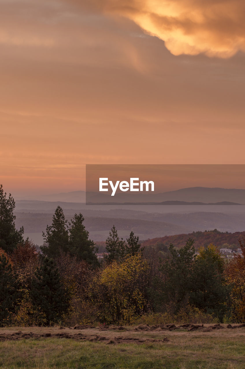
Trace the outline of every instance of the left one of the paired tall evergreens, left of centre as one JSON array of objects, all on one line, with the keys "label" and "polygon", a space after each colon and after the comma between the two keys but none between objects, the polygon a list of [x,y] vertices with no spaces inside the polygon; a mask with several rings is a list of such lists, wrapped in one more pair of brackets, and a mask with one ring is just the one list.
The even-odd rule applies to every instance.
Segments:
[{"label": "left one of the paired tall evergreens, left of centre", "polygon": [[44,242],[48,245],[41,246],[41,250],[50,258],[57,256],[60,250],[67,252],[69,245],[67,220],[63,210],[57,207],[53,215],[52,225],[47,225],[46,233],[43,232]]}]

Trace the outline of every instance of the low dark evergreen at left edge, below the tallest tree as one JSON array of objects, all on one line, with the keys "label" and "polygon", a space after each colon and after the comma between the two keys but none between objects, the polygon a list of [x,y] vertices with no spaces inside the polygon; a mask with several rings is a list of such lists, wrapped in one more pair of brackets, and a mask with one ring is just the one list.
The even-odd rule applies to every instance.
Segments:
[{"label": "low dark evergreen at left edge, below the tallest tree", "polygon": [[18,285],[9,260],[0,255],[0,326],[6,323],[10,313],[14,311],[18,297]]}]

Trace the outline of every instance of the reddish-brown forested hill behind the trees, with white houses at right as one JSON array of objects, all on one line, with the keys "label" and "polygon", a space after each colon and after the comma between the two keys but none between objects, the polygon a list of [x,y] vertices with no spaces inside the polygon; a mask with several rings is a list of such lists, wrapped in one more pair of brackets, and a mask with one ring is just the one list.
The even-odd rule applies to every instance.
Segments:
[{"label": "reddish-brown forested hill behind the trees, with white houses at right", "polygon": [[200,246],[206,246],[211,243],[217,245],[218,247],[221,247],[223,244],[235,244],[236,246],[239,246],[238,239],[241,237],[241,235],[245,235],[245,231],[235,233],[219,232],[217,230],[206,232],[198,231],[188,234],[177,234],[172,236],[152,238],[142,242],[142,245],[145,247],[157,245],[168,246],[172,243],[176,248],[181,248],[185,245],[187,239],[191,238],[195,241],[194,246],[196,249],[198,249]]}]

